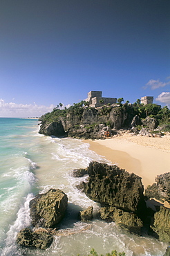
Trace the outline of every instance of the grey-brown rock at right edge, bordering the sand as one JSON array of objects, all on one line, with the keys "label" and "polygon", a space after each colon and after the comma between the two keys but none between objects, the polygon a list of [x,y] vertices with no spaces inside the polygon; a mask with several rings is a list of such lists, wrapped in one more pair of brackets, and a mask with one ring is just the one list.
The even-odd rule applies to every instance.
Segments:
[{"label": "grey-brown rock at right edge, bordering the sand", "polygon": [[145,196],[170,203],[170,172],[156,176],[155,182],[145,190]]}]

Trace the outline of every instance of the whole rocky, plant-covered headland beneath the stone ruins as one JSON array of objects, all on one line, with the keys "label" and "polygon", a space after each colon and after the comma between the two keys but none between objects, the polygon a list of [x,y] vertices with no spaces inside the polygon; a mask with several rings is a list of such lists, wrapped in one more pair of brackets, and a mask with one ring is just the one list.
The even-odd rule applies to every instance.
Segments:
[{"label": "whole rocky, plant-covered headland beneath the stone ruins", "polygon": [[[141,135],[147,136],[162,136],[159,131],[170,131],[170,110],[161,109],[157,104],[113,104],[94,108],[80,102],[68,109],[55,108],[39,120],[40,134],[57,137],[98,139],[103,138],[108,129],[109,135],[119,129],[129,129],[135,134],[141,131]],[[159,130],[154,131],[158,125]]]}]

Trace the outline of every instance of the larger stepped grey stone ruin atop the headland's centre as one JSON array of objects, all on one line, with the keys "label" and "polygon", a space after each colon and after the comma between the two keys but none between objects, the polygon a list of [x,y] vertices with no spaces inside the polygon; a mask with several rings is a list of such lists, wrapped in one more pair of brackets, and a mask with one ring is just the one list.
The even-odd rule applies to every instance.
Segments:
[{"label": "larger stepped grey stone ruin atop the headland's centre", "polygon": [[90,91],[86,101],[89,102],[89,107],[102,107],[104,104],[108,103],[115,104],[117,98],[104,98],[102,97],[102,91]]}]

